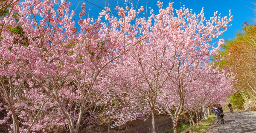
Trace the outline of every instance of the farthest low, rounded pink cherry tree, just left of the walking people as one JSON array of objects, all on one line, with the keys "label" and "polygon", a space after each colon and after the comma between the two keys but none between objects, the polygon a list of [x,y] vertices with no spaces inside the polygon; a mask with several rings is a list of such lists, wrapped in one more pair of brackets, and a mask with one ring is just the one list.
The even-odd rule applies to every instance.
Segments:
[{"label": "farthest low, rounded pink cherry tree, just left of the walking people", "polygon": [[[212,104],[227,100],[227,96],[234,93],[234,77],[227,73],[227,70],[219,70],[213,65],[206,64],[201,70],[200,76],[190,85],[192,91],[186,97],[184,111],[187,111],[190,117],[191,125],[195,125],[193,112],[198,114],[203,110],[203,116],[207,108]],[[202,97],[203,96],[203,97]],[[196,115],[197,122],[199,115]],[[207,118],[207,116],[204,116]]]}]

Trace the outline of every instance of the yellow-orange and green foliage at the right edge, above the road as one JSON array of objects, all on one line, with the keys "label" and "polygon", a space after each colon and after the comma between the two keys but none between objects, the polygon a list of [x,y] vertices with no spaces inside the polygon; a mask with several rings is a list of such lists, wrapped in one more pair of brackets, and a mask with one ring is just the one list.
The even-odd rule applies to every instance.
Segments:
[{"label": "yellow-orange and green foliage at the right edge, above the road", "polygon": [[[225,60],[215,62],[220,69],[228,68],[236,74],[237,83],[233,87],[238,90],[236,94],[230,96],[230,103],[237,109],[244,109],[244,102],[255,97],[256,94],[248,89],[254,87],[256,77],[256,25],[244,22],[243,30],[236,33],[236,38],[226,41],[221,50],[220,56],[214,57]],[[248,77],[248,78],[246,78]],[[250,78],[249,78],[250,77]]]}]

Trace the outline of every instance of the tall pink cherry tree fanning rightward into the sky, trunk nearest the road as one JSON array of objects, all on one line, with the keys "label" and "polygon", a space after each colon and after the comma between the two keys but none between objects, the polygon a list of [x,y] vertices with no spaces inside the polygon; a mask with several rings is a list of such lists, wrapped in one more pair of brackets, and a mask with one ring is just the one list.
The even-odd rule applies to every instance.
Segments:
[{"label": "tall pink cherry tree fanning rightward into the sky, trunk nearest the road", "polygon": [[[164,11],[173,11],[173,9],[166,8]],[[217,12],[214,13],[214,17],[210,20],[205,20],[203,10],[200,14],[192,14],[192,11],[183,7],[177,10],[178,17],[173,17],[180,25],[176,30],[172,30],[173,44],[176,44],[177,50],[175,56],[175,68],[173,69],[172,76],[169,77],[169,91],[172,95],[169,95],[169,99],[172,102],[165,103],[165,109],[172,117],[174,132],[177,132],[177,122],[179,116],[183,111],[184,101],[187,97],[187,93],[191,91],[189,85],[198,78],[198,71],[205,61],[209,61],[212,55],[217,54],[217,50],[223,44],[223,40],[220,39],[217,42],[218,46],[213,47],[213,44],[209,42],[212,39],[221,35],[228,23],[232,21],[232,16],[221,18],[217,16]],[[161,14],[161,12],[160,12]],[[163,15],[164,16],[164,15]],[[162,18],[162,17],[161,17]],[[169,22],[169,19],[163,19]],[[170,33],[169,33],[170,34]],[[212,50],[210,50],[212,48]],[[168,90],[168,89],[167,89]],[[174,94],[173,94],[174,93]],[[163,93],[164,94],[164,93]],[[172,98],[172,97],[173,98]],[[166,97],[167,98],[167,97]],[[174,100],[178,100],[177,104],[173,103]],[[166,100],[164,100],[166,101]],[[174,107],[174,108],[170,108]],[[172,110],[174,112],[172,112]]]}]

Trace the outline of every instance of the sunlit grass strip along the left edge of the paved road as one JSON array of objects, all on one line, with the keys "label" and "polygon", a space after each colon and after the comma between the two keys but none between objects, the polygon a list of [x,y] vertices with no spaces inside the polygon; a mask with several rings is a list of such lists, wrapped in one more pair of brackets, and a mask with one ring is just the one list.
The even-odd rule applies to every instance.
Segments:
[{"label": "sunlit grass strip along the left edge of the paved road", "polygon": [[208,119],[203,120],[199,125],[196,125],[195,127],[192,127],[192,129],[189,130],[189,133],[205,133],[208,129],[208,127],[212,124],[212,122],[216,119],[215,115],[212,114],[208,116]]}]

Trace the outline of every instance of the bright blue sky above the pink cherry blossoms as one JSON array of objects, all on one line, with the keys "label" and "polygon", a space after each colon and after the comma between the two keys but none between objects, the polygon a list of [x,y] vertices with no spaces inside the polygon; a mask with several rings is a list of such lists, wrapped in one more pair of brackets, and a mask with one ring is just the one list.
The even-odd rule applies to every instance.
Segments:
[{"label": "bright blue sky above the pink cherry blossoms", "polygon": [[[93,17],[96,19],[99,15],[99,12],[102,11],[101,8],[104,8],[106,3],[107,6],[111,8],[111,11],[113,13],[116,13],[114,8],[119,4],[119,6],[124,5],[125,0],[67,0],[68,2],[72,3],[72,9],[75,9],[77,6],[78,8],[76,9],[76,14],[79,14],[80,7],[82,3],[86,4],[86,10],[87,14],[89,12],[89,17]],[[128,0],[129,3],[130,0]],[[158,11],[157,7],[157,1],[158,0],[131,0],[131,3],[134,3],[134,6],[137,5],[138,2],[138,7],[144,6],[146,8],[147,2],[148,2],[148,7],[151,7],[151,9],[154,9],[154,13],[156,14]],[[169,2],[174,2],[174,8],[179,9],[180,5],[185,5],[186,8],[193,9],[193,12],[196,14],[200,13],[201,9],[204,7],[204,14],[207,19],[209,17],[213,16],[213,13],[215,11],[218,11],[218,14],[221,14],[221,16],[227,16],[229,13],[229,9],[231,9],[231,14],[234,16],[233,22],[231,22],[232,26],[227,29],[227,31],[223,34],[223,39],[228,40],[232,39],[236,36],[236,32],[241,30],[241,25],[244,22],[248,23],[255,23],[255,13],[253,11],[254,6],[252,1],[247,1],[247,0],[160,0],[160,2],[163,2],[163,7],[167,6]],[[89,3],[90,2],[90,3]],[[95,6],[93,4],[99,6]],[[145,10],[144,10],[145,11]],[[148,11],[149,15],[149,11]]]}]

